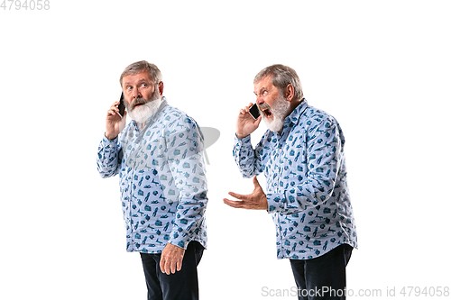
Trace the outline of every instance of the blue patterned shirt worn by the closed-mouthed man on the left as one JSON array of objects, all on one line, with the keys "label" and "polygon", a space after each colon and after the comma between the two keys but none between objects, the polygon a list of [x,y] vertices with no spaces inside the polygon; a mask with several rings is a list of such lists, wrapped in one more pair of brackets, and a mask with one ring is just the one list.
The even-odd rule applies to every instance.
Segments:
[{"label": "blue patterned shirt worn by the closed-mouthed man on the left", "polygon": [[161,253],[168,242],[207,247],[202,151],[198,124],[165,98],[141,132],[132,121],[114,141],[100,142],[100,176],[120,177],[127,251]]}]

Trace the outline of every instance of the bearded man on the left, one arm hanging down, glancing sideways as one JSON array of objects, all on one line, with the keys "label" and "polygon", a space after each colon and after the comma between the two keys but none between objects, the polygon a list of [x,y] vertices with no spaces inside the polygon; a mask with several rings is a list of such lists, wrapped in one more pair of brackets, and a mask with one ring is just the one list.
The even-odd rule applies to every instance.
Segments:
[{"label": "bearded man on the left, one arm hanging down, glancing sideways", "polygon": [[[120,77],[124,116],[106,114],[97,153],[101,177],[119,174],[127,251],[140,252],[148,299],[198,299],[197,266],[207,247],[203,136],[168,105],[160,69],[138,61]],[[125,115],[132,122],[125,126]]]}]

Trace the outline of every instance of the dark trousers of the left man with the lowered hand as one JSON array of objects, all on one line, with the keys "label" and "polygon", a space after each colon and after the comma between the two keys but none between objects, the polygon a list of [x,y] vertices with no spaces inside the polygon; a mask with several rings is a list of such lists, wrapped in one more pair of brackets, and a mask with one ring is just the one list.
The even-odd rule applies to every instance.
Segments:
[{"label": "dark trousers of the left man with the lowered hand", "polygon": [[140,253],[143,260],[148,300],[197,300],[198,263],[204,247],[198,241],[190,241],[183,256],[181,269],[175,274],[161,272],[161,254]]}]

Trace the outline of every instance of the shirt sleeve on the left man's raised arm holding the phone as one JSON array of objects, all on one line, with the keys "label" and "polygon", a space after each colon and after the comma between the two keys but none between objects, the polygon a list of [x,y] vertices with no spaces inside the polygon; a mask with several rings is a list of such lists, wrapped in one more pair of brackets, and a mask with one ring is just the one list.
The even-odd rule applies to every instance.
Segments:
[{"label": "shirt sleeve on the left man's raised arm holding the phone", "polygon": [[104,136],[97,150],[97,171],[101,177],[113,177],[117,174],[121,155],[122,150],[118,138],[110,141]]}]

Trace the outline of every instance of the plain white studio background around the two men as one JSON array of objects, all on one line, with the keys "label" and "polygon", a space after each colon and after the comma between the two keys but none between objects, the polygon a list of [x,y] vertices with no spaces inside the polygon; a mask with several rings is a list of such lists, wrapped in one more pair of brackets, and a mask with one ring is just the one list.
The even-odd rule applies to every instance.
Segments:
[{"label": "plain white studio background around the two men", "polygon": [[119,76],[141,59],[161,68],[171,105],[221,132],[207,149],[202,299],[296,298],[262,293],[295,286],[271,217],[222,202],[253,189],[232,158],[235,118],[273,63],[295,68],[309,105],[345,132],[360,246],[348,289],[381,289],[380,299],[392,287],[451,286],[447,1],[4,3],[1,299],[145,299],[117,178],[96,169]]}]

